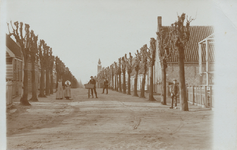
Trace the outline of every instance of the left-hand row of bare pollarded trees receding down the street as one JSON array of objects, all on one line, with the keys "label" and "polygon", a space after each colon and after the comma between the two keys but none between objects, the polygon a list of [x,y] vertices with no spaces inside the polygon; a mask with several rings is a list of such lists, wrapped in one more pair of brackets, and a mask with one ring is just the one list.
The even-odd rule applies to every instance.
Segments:
[{"label": "left-hand row of bare pollarded trees receding down the street", "polygon": [[[24,30],[23,30],[24,26]],[[65,64],[58,58],[52,55],[52,48],[50,48],[44,40],[38,42],[38,36],[34,31],[30,31],[29,24],[23,24],[22,22],[14,22],[14,26],[11,23],[11,29],[9,28],[9,36],[14,36],[16,42],[21,47],[21,52],[24,59],[24,78],[23,78],[23,95],[20,99],[22,105],[31,105],[29,101],[38,101],[39,97],[46,97],[53,94],[53,70],[56,65],[57,80],[69,79],[72,82],[72,86],[77,85],[76,78],[71,74],[69,69],[65,67]],[[32,97],[28,100],[28,62],[32,64]],[[41,77],[40,77],[40,93],[37,96],[36,79],[35,79],[35,67],[40,62]],[[45,81],[46,80],[46,81]],[[46,85],[44,85],[46,84]]]}]

